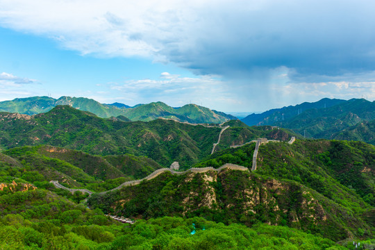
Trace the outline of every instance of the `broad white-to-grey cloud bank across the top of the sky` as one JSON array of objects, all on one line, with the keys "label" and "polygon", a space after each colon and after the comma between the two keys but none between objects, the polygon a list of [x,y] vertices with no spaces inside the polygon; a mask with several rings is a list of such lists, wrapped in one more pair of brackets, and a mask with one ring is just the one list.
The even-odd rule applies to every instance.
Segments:
[{"label": "broad white-to-grey cloud bank across the top of the sky", "polygon": [[1,26],[99,57],[142,56],[243,78],[374,70],[374,1],[1,0]]}]

